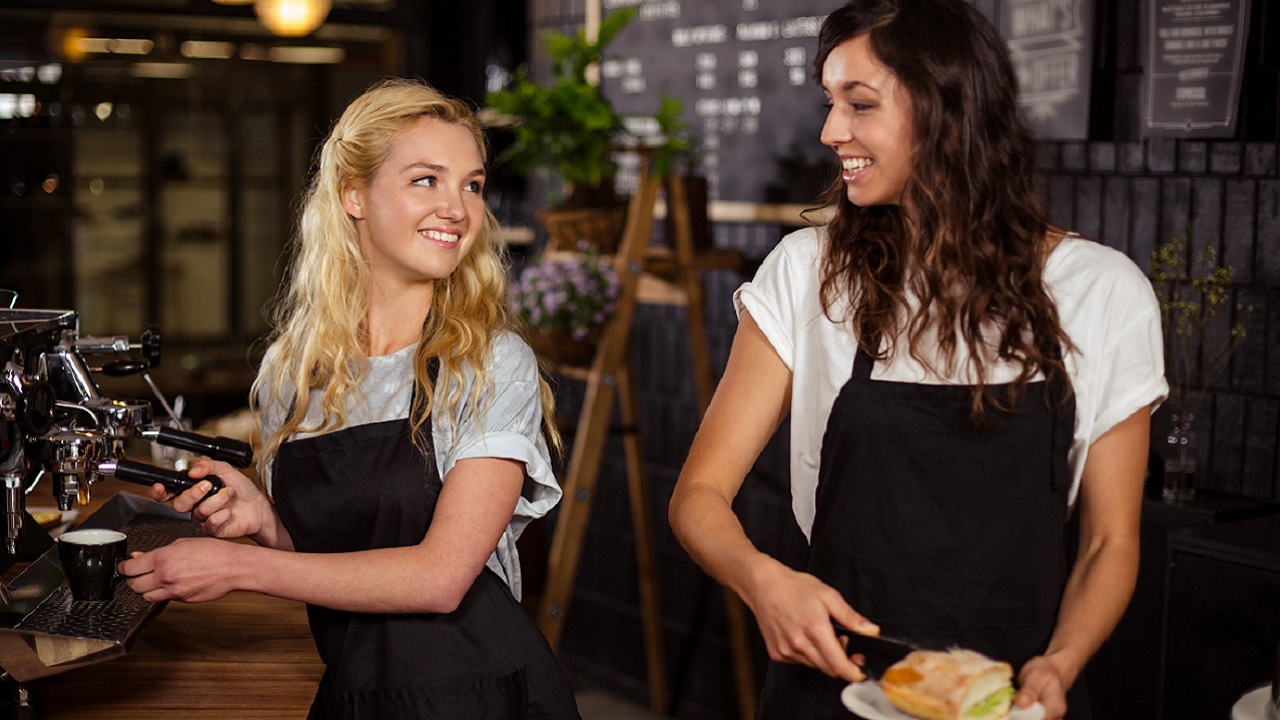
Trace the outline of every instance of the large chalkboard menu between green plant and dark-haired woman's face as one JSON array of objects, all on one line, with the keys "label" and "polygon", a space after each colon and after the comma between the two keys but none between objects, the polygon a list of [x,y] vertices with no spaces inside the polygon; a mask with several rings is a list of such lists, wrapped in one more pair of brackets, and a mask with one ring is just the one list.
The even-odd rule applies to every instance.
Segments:
[{"label": "large chalkboard menu between green plant and dark-haired woman's face", "polygon": [[712,200],[812,202],[836,177],[812,68],[838,0],[603,0],[605,12],[632,5],[600,68],[614,106],[639,117],[632,129],[644,135],[643,117],[673,95]]}]

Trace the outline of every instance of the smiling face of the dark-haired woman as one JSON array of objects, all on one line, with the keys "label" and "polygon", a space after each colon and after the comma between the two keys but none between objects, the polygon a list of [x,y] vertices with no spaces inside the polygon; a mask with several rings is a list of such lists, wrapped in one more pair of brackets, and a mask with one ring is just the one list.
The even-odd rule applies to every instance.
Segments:
[{"label": "smiling face of the dark-haired woman", "polygon": [[911,99],[859,35],[836,46],[822,65],[829,110],[822,143],[840,156],[849,201],[900,205],[915,167]]}]

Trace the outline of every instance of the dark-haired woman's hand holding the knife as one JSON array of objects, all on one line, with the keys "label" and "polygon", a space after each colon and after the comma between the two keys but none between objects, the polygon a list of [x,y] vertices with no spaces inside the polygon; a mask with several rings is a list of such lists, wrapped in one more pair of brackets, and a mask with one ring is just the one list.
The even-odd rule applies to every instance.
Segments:
[{"label": "dark-haired woman's hand holding the knife", "polygon": [[769,659],[797,662],[849,682],[865,674],[849,657],[832,621],[855,633],[879,634],[879,628],[858,614],[835,588],[818,578],[767,560],[755,591],[745,596],[755,614]]}]

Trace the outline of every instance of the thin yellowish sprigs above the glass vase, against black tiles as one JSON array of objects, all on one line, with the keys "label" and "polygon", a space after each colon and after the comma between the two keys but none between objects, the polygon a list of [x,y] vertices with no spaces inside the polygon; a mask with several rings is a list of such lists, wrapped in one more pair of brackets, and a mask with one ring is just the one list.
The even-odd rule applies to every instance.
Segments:
[{"label": "thin yellowish sprigs above the glass vase, against black tiles", "polygon": [[[1190,237],[1190,228],[1187,236]],[[1236,320],[1225,328],[1216,322],[1219,313],[1230,307],[1234,269],[1219,264],[1212,246],[1206,245],[1188,258],[1183,238],[1170,233],[1151,252],[1149,269],[1160,301],[1165,375],[1174,410],[1189,419],[1244,341],[1244,324],[1239,318],[1249,309],[1235,305]]]}]

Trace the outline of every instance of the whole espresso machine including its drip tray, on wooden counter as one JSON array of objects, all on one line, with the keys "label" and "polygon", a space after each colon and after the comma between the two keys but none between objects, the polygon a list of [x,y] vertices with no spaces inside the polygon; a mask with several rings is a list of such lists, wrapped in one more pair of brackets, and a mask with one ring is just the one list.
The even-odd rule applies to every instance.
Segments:
[{"label": "whole espresso machine including its drip tray, on wooden counter", "polygon": [[[0,571],[31,561],[0,583],[0,716],[37,717],[26,683],[123,655],[163,603],[145,602],[120,583],[115,597],[74,602],[54,541],[27,511],[27,495],[47,477],[61,511],[88,503],[108,479],[179,493],[196,480],[184,471],[125,457],[125,441],[177,447],[246,468],[248,443],[184,432],[150,369],[160,363],[160,334],[81,337],[73,310],[0,307],[0,488],[4,547]],[[96,375],[141,375],[164,416],[146,400],[105,397]],[[216,477],[204,478],[221,488]],[[189,516],[132,493],[113,496],[82,528],[124,530],[129,551],[147,551],[200,534]]]}]

